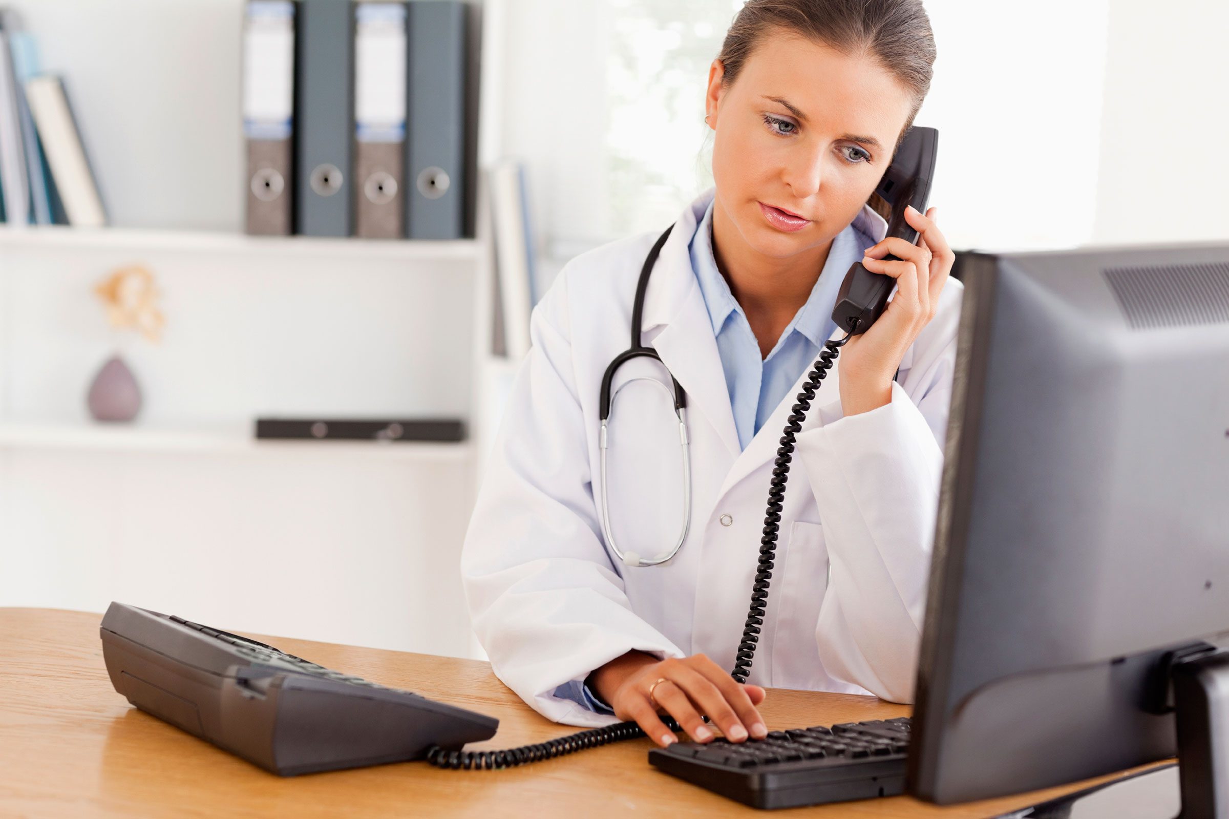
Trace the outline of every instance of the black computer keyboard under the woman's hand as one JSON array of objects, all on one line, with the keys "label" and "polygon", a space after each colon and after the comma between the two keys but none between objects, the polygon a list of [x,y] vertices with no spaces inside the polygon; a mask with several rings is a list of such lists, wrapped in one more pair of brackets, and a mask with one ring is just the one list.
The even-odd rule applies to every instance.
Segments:
[{"label": "black computer keyboard under the woman's hand", "polygon": [[909,719],[773,730],[764,739],[676,743],[649,761],[753,808],[795,808],[905,793]]}]

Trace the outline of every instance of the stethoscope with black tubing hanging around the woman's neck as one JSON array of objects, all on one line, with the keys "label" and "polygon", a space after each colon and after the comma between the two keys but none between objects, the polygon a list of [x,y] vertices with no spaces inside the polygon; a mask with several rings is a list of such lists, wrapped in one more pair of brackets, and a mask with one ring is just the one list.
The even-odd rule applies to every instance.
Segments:
[{"label": "stethoscope with black tubing hanging around the woman's neck", "polygon": [[[682,547],[683,541],[687,540],[687,530],[691,528],[691,457],[687,449],[687,394],[678,385],[678,380],[670,373],[670,368],[666,363],[661,360],[658,355],[658,350],[651,347],[645,347],[640,343],[640,323],[642,316],[644,314],[644,294],[649,289],[649,274],[653,272],[653,266],[658,261],[658,255],[661,252],[661,246],[666,243],[666,237],[670,236],[670,231],[673,230],[673,224],[666,228],[665,232],[658,237],[654,242],[653,250],[649,251],[648,257],[644,259],[644,267],[640,268],[640,279],[635,284],[635,300],[632,303],[632,346],[614,357],[614,360],[610,363],[606,368],[605,375],[602,375],[602,390],[601,398],[599,403],[599,413],[601,419],[601,430],[597,438],[599,457],[601,464],[601,502],[602,502],[602,532],[606,535],[606,542],[614,551],[614,555],[627,566],[658,566],[659,563],[665,563],[671,557],[678,553],[680,547]],[[683,455],[683,528],[678,532],[678,541],[675,547],[669,552],[661,552],[656,557],[644,558],[640,557],[638,552],[628,551],[624,552],[614,542],[614,532],[611,530],[611,515],[610,515],[610,499],[607,497],[608,481],[606,480],[606,440],[607,440],[607,423],[610,421],[611,407],[614,401],[614,396],[611,395],[611,382],[614,380],[614,373],[618,370],[619,365],[633,358],[651,358],[656,360],[661,366],[666,369],[670,374],[670,380],[675,385],[673,401],[675,401],[675,416],[678,418],[678,443],[682,448]],[[900,376],[900,369],[896,370],[896,375],[892,380]],[[666,385],[648,375],[639,375],[630,378],[624,381],[622,386],[627,386],[632,381],[650,381],[656,384],[662,390],[666,390]],[[669,395],[670,391],[666,390]]]}]

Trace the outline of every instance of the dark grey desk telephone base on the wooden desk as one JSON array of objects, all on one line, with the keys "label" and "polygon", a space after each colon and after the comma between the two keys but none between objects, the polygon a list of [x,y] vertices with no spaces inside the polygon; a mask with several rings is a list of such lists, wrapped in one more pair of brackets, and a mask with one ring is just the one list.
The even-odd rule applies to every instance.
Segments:
[{"label": "dark grey desk telephone base on the wooden desk", "polygon": [[100,636],[129,702],[283,776],[425,759],[499,727],[176,615],[112,603]]}]

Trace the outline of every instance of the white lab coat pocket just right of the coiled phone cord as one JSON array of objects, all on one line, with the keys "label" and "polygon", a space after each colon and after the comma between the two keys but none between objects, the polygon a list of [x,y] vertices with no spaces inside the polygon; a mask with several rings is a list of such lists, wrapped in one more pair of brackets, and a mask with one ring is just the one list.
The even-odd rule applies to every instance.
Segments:
[{"label": "white lab coat pocket just right of the coiled phone cord", "polygon": [[[780,607],[773,636],[773,657],[809,657],[814,652],[820,604],[828,587],[828,551],[821,524],[805,520],[790,524],[789,550],[779,577]],[[772,589],[768,594],[772,595]],[[806,651],[807,647],[810,651]],[[778,676],[775,668],[773,676]],[[785,679],[791,676],[785,674]]]}]

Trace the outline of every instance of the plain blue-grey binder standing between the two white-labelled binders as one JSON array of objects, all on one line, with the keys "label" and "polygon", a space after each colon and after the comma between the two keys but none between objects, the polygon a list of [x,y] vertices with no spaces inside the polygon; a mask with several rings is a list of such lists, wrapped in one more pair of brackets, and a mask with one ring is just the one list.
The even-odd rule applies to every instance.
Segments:
[{"label": "plain blue-grey binder standing between the two white-labelled binders", "polygon": [[354,112],[350,0],[300,0],[296,232],[349,236]]}]

